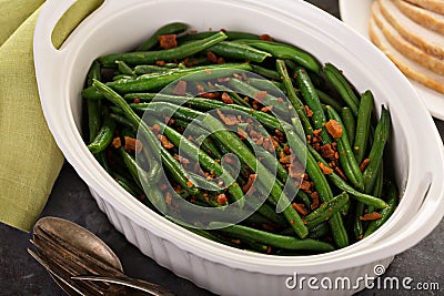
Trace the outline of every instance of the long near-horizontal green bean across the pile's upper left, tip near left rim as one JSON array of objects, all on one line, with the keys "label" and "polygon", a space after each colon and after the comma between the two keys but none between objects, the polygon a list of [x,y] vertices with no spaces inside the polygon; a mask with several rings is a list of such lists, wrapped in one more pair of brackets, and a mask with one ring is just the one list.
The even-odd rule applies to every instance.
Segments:
[{"label": "long near-horizontal green bean across the pile's upper left, tip near left rim", "polygon": [[[219,70],[219,71],[212,71]],[[212,64],[212,65],[202,65],[189,69],[180,69],[175,71],[168,71],[163,73],[151,74],[148,76],[140,76],[133,80],[124,80],[124,81],[113,81],[108,82],[107,86],[119,93],[130,93],[130,92],[141,92],[141,91],[150,91],[154,89],[159,89],[165,86],[176,80],[188,75],[194,74],[194,80],[208,80],[212,78],[220,78],[224,75],[230,75],[233,73],[233,70],[251,70],[251,67],[248,63],[225,63],[225,64]],[[100,93],[95,86],[91,86],[84,89],[82,91],[82,95],[85,99],[102,99],[103,95]]]}]

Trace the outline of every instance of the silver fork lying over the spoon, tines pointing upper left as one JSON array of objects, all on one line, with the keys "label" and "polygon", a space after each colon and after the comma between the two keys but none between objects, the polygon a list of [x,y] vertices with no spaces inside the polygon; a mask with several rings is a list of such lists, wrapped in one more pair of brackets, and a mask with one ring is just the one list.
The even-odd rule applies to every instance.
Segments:
[{"label": "silver fork lying over the spoon, tines pointing upper left", "polygon": [[159,285],[128,277],[121,271],[73,246],[39,225],[29,254],[70,295],[133,295],[135,290],[155,296],[173,294]]}]

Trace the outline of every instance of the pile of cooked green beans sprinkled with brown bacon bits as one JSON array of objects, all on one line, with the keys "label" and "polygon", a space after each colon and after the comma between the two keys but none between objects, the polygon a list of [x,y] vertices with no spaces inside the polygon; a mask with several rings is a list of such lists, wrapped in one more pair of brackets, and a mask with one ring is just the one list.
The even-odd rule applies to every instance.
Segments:
[{"label": "pile of cooked green beans sprinkled with brown bacon bits", "polygon": [[[269,35],[186,30],[165,24],[135,51],[99,57],[89,70],[84,141],[118,184],[181,225],[173,195],[221,213],[233,203],[254,208],[233,225],[215,215],[205,227],[199,216],[182,226],[272,255],[346,247],[387,221],[400,200],[386,169],[391,116],[370,90],[359,93],[333,63]],[[176,44],[162,48],[165,35]],[[163,92],[190,74],[183,90]],[[230,154],[239,173],[222,165]],[[261,201],[249,197],[256,176]]]}]

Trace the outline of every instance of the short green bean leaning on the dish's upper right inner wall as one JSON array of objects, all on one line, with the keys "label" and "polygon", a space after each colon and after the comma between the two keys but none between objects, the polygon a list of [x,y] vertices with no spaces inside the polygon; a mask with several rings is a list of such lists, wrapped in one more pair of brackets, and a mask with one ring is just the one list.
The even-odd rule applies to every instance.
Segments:
[{"label": "short green bean leaning on the dish's upper right inner wall", "polygon": [[357,108],[360,105],[360,100],[354,93],[352,86],[349,84],[349,81],[332,63],[326,63],[323,70],[327,80],[332,83],[332,85],[340,93],[341,98],[352,110],[353,115],[357,118]]}]

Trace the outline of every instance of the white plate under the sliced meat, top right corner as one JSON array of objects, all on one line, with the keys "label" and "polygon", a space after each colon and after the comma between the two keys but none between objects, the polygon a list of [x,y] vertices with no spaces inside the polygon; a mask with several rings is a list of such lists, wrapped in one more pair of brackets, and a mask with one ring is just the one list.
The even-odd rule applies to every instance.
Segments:
[{"label": "white plate under the sliced meat, top right corner", "polygon": [[[373,0],[340,0],[341,19],[365,38],[369,38],[369,18],[372,2]],[[410,80],[410,82],[418,96],[424,100],[432,116],[444,120],[444,95],[416,81]]]}]

